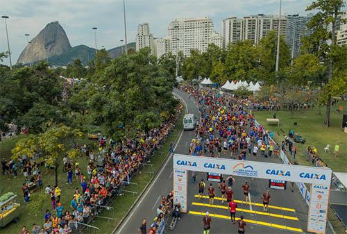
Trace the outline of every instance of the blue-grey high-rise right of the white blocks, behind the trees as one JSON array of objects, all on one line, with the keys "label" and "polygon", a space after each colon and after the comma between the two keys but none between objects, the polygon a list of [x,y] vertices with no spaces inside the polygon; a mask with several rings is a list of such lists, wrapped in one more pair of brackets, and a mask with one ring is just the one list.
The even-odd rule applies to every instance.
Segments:
[{"label": "blue-grey high-rise right of the white blocks, behind the trees", "polygon": [[307,31],[307,23],[310,20],[310,16],[287,15],[285,42],[289,46],[292,58],[300,55],[301,38],[310,34],[310,31]]}]

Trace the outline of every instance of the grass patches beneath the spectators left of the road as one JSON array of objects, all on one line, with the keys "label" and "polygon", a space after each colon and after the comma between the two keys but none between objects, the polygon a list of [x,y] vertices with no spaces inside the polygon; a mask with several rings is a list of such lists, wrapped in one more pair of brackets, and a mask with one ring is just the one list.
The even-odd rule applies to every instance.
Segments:
[{"label": "grass patches beneath the spectators left of the road", "polygon": [[[151,160],[151,163],[153,164],[154,172],[158,171],[160,165],[166,158],[167,153],[169,152],[170,142],[171,141],[174,142],[176,140],[176,138],[178,137],[178,134],[183,128],[182,126],[183,115],[184,115],[184,112],[178,118],[178,123],[176,124],[174,131],[167,138],[167,141],[165,142],[164,146],[157,151],[157,153]],[[3,158],[3,157],[10,158],[11,156],[10,150],[13,147],[15,147],[17,140],[19,140],[19,137],[14,137],[10,140],[5,140],[3,142],[0,142],[0,158]],[[81,158],[77,158],[76,160],[78,160],[83,174],[87,174],[86,170],[87,170],[88,158],[81,157]],[[45,172],[44,167],[41,167],[40,170],[42,172]],[[147,183],[149,183],[152,177],[153,177],[153,174],[147,174],[147,173],[138,174],[137,176],[135,176],[135,178],[133,178],[133,181],[132,181],[133,183],[137,183],[138,186],[130,185],[128,187],[128,190],[136,190],[139,193],[136,195],[126,193],[121,197],[117,197],[110,203],[110,206],[115,208],[115,217],[113,217],[115,220],[108,222],[107,219],[99,219],[99,218],[94,219],[95,222],[92,223],[92,225],[100,228],[99,233],[112,232],[112,230],[121,221],[121,219],[124,217],[124,215],[130,208],[130,206],[133,205],[135,199],[137,199],[137,197],[142,192],[142,190],[144,190],[144,187],[147,185]],[[59,178],[58,180],[59,186],[62,189],[62,196],[60,199],[60,201],[62,202],[62,206],[64,206],[65,209],[71,210],[69,208],[69,203],[71,201],[72,195],[74,194],[74,189],[76,187],[81,187],[81,186],[79,185],[79,183],[76,181],[75,178],[74,178],[73,185],[66,185],[67,175],[66,173],[62,172],[62,168],[59,169],[58,178]],[[12,175],[3,176],[1,174],[0,181],[1,181],[0,195],[5,192],[15,192],[18,195],[17,201],[21,203],[21,207],[19,208],[21,210],[20,216],[19,216],[19,222],[17,224],[11,223],[11,224],[8,224],[5,228],[1,228],[0,233],[6,233],[6,234],[19,233],[23,225],[27,226],[28,230],[31,231],[31,228],[33,227],[33,223],[41,225],[42,222],[44,221],[44,210],[46,209],[52,210],[49,195],[47,195],[47,202],[42,207],[42,214],[35,214],[30,209],[30,203],[35,201],[24,203],[24,199],[22,196],[22,183],[24,182],[24,177],[22,174],[19,175],[17,178],[13,178]],[[46,185],[54,184],[53,172],[43,174],[43,183],[44,183],[44,187],[46,187]],[[33,193],[33,196],[35,196],[35,192]]]}]

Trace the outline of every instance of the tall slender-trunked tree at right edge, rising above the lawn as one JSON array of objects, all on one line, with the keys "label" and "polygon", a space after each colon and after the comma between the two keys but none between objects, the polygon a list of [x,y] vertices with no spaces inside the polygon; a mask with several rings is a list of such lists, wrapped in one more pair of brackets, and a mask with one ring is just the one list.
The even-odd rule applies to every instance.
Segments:
[{"label": "tall slender-trunked tree at right edge, rising above the lawn", "polygon": [[[335,33],[337,21],[341,15],[341,8],[344,6],[344,0],[316,0],[306,8],[306,10],[309,11],[316,11],[316,14],[313,15],[311,21],[307,24],[312,34],[304,38],[303,44],[307,51],[316,54],[316,56],[328,67],[328,86],[330,81],[334,78],[335,62],[339,60],[339,58],[333,56],[333,53],[339,50],[336,44]],[[328,28],[331,28],[331,31]],[[328,89],[326,90],[326,94],[324,124],[330,126],[332,93],[330,93]]]}]

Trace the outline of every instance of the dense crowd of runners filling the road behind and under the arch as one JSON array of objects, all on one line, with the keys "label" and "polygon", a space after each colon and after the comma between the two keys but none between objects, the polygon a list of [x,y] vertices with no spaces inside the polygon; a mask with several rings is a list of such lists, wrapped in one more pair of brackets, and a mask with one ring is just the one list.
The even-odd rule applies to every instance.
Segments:
[{"label": "dense crowd of runners filling the road behind and under the arch", "polygon": [[[227,156],[233,159],[246,160],[246,157],[271,157],[275,154],[276,146],[270,140],[273,133],[266,131],[263,126],[255,123],[251,112],[258,103],[253,103],[251,99],[239,99],[232,94],[220,94],[219,90],[199,89],[192,86],[180,86],[180,90],[189,94],[190,98],[196,99],[201,112],[201,121],[196,127],[196,137],[192,140],[189,147],[189,155],[192,156],[210,156],[220,158]],[[276,152],[277,154],[278,152]],[[196,181],[196,173],[192,172],[192,183]],[[235,178],[228,176],[218,185],[218,191],[221,193],[221,203],[226,201],[230,211],[232,224],[236,223],[235,213],[237,203],[233,200],[232,185]],[[248,202],[248,193],[251,187],[247,181],[242,185],[244,192],[243,202]],[[207,190],[207,191],[205,191]],[[203,179],[198,183],[198,197],[202,198],[208,195],[210,205],[214,204],[217,189],[212,183],[206,186]],[[262,194],[264,211],[268,210],[271,195],[269,191]],[[210,232],[212,219],[209,212],[203,217],[203,233]],[[237,220],[238,233],[244,233],[246,222],[244,217]]]}]

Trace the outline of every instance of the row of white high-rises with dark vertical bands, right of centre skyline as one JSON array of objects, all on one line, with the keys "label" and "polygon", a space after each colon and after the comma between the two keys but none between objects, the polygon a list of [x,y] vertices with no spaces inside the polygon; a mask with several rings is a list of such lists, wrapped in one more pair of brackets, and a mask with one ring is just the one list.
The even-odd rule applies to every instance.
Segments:
[{"label": "row of white high-rises with dark vertical bands, right of centre skyline", "polygon": [[242,18],[230,17],[222,20],[223,47],[238,41],[251,40],[258,44],[271,30],[277,31],[280,22],[281,35],[286,34],[287,17],[273,15],[251,15]]}]

